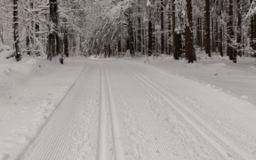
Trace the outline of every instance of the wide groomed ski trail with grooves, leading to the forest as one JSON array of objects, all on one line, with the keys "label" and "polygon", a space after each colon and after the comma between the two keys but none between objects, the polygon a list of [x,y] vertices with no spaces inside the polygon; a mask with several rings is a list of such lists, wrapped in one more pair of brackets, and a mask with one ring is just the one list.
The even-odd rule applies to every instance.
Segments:
[{"label": "wide groomed ski trail with grooves, leading to the forest", "polygon": [[129,60],[85,68],[20,160],[255,160],[256,108]]}]

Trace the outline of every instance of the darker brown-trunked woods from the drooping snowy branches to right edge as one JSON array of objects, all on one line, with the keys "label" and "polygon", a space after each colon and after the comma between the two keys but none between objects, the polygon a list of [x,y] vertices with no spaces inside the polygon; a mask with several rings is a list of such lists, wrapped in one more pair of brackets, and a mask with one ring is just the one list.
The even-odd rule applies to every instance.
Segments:
[{"label": "darker brown-trunked woods from the drooping snowy branches to right edge", "polygon": [[[196,60],[196,51],[255,57],[256,16],[250,0],[119,0],[110,3],[94,33],[87,54],[172,54],[175,60]],[[105,3],[106,4],[106,3]],[[251,8],[251,10],[250,10]],[[107,12],[106,12],[107,11]],[[248,14],[249,12],[249,14]],[[95,19],[95,17],[93,18]]]}]

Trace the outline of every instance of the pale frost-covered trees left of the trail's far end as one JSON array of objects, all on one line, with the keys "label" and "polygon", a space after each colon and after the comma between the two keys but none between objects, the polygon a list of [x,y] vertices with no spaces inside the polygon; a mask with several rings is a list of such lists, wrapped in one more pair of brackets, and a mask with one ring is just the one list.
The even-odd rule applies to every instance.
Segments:
[{"label": "pale frost-covered trees left of the trail's far end", "polygon": [[84,6],[85,1],[0,0],[0,43],[10,45],[18,61],[28,54],[63,63],[69,52],[80,50]]}]

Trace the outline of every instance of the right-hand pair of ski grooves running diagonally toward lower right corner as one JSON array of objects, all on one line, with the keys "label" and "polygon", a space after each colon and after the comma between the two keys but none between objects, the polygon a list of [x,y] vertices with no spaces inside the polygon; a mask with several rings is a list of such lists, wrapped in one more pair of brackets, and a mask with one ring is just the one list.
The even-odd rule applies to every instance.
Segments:
[{"label": "right-hand pair of ski grooves running diagonally toward lower right corner", "polygon": [[[131,70],[131,72],[137,76],[143,83],[147,84],[149,88],[159,94],[168,104],[170,104],[179,113],[188,124],[190,124],[196,132],[198,132],[204,140],[212,145],[218,153],[225,159],[244,159],[252,160],[253,158],[246,154],[244,150],[238,148],[236,144],[228,140],[220,132],[216,131],[211,125],[207,124],[203,118],[197,116],[196,113],[190,108],[186,107],[180,100],[177,100],[170,93],[165,91],[162,87],[148,80],[145,76],[142,76],[138,71],[133,68],[123,65],[125,68]],[[217,142],[218,141],[218,142]]]}]

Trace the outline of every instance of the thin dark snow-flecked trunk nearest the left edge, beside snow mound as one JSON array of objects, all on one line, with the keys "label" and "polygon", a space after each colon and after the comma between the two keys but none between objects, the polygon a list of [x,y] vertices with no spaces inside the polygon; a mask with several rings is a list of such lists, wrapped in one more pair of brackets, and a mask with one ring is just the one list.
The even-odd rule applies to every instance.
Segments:
[{"label": "thin dark snow-flecked trunk nearest the left edge, beside snow mound", "polygon": [[17,61],[20,61],[22,59],[22,55],[20,52],[18,0],[13,0],[13,34],[16,50],[15,58]]}]

